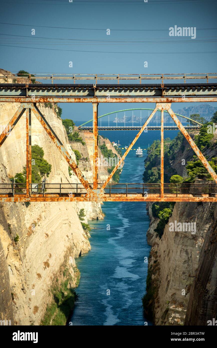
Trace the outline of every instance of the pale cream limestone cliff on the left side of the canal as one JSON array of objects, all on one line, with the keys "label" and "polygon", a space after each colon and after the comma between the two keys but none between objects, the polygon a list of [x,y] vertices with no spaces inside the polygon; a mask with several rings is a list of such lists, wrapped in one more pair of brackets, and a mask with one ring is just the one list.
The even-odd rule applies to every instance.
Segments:
[{"label": "pale cream limestone cliff on the left side of the canal", "polygon": [[[11,76],[13,80],[9,72],[1,70],[1,74]],[[55,105],[37,106],[76,161]],[[18,107],[19,103],[1,104],[1,131]],[[70,177],[68,164],[32,113],[32,145],[35,144],[43,148],[44,158],[52,165],[48,183],[79,182],[74,173]],[[22,172],[25,160],[23,115],[0,149],[0,182],[8,183],[9,177]],[[89,163],[88,179],[91,170]],[[92,202],[0,204],[1,320],[11,320],[15,325],[40,324],[51,300],[50,287],[54,279],[62,280],[64,268],[71,274],[70,286],[75,287],[78,278],[75,258],[90,250],[78,217],[81,208],[85,209],[85,223],[103,218],[101,205]],[[15,242],[17,234],[19,240]]]}]

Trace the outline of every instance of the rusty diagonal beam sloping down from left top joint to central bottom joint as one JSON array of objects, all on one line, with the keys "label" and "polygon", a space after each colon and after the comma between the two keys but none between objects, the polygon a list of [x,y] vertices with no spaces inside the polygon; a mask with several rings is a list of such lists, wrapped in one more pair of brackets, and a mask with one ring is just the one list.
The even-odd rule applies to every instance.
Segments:
[{"label": "rusty diagonal beam sloping down from left top joint to central bottom joint", "polygon": [[39,120],[40,124],[43,128],[45,128],[47,134],[49,135],[50,139],[54,142],[57,149],[62,153],[63,157],[69,164],[69,166],[72,168],[75,175],[78,177],[80,182],[82,183],[83,187],[86,188],[87,191],[90,191],[90,184],[84,179],[83,174],[81,173],[80,169],[78,168],[77,164],[73,161],[72,157],[70,156],[69,152],[64,147],[61,140],[59,140],[58,136],[54,132],[54,130],[50,127],[49,123],[45,119],[45,117],[42,115],[41,111],[38,109],[36,103],[33,103],[31,105],[31,109],[34,112],[35,116]]}]

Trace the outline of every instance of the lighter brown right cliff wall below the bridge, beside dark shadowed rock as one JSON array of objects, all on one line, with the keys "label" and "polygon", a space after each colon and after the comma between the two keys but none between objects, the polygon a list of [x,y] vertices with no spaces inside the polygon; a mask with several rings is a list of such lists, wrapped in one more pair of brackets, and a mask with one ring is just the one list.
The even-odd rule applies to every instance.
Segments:
[{"label": "lighter brown right cliff wall below the bridge, beside dark shadowed rock", "polygon": [[[152,203],[147,206],[151,217],[147,239],[152,245],[148,267],[155,288],[152,307],[154,324],[183,325],[199,257],[202,258],[204,240],[209,240],[207,235],[212,229],[217,207],[215,203],[176,203],[159,239],[154,232],[158,220],[152,217]],[[169,231],[169,223],[175,221],[195,222],[195,234],[191,231]],[[200,276],[203,278],[204,274]],[[214,289],[212,287],[212,291]]]}]

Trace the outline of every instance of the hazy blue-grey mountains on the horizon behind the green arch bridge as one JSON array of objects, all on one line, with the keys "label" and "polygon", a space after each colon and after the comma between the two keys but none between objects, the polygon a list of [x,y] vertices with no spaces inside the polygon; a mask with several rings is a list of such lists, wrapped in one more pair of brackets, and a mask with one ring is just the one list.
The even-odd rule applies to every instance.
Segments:
[{"label": "hazy blue-grey mountains on the horizon behind the green arch bridge", "polygon": [[[186,116],[186,117],[190,117],[190,115],[194,114],[194,113],[199,113],[200,116],[204,117],[207,121],[210,121],[213,114],[217,111],[217,107],[214,107],[210,104],[204,103],[204,104],[200,104],[197,103],[196,105],[193,106],[186,106],[183,109],[179,109],[177,111],[175,111],[175,113],[178,113],[180,115]],[[151,111],[150,111],[151,113]],[[135,116],[134,115],[134,123],[140,123],[140,117],[139,116]],[[160,111],[158,111],[158,122],[160,124]],[[187,120],[185,120],[184,118],[178,117],[179,120],[186,122]],[[156,117],[156,113],[153,116],[151,122],[156,122],[157,117]],[[146,118],[142,118],[142,125],[145,123]],[[170,117],[170,115],[168,113],[164,113],[164,121],[165,122],[172,122],[172,119]],[[113,121],[114,123],[116,123],[116,117]],[[132,123],[132,115],[131,116],[125,116],[125,122],[131,122]],[[118,118],[118,123],[124,123],[124,117]]]}]

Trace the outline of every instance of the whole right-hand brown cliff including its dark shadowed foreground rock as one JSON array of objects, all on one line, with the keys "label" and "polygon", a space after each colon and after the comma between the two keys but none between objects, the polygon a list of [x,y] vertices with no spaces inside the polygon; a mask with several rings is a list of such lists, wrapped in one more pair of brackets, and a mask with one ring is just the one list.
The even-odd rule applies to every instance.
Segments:
[{"label": "whole right-hand brown cliff including its dark shadowed foreground rock", "polygon": [[[193,136],[194,134],[191,134]],[[216,135],[204,155],[216,157]],[[192,160],[193,151],[184,140],[170,161],[171,168],[186,176],[182,159]],[[152,246],[147,277],[147,315],[155,325],[207,325],[216,318],[217,287],[217,205],[216,203],[177,202],[161,239],[154,231],[159,219],[147,203],[150,227],[148,244]],[[171,224],[195,223],[189,231],[170,229]],[[194,233],[195,232],[195,233]],[[147,304],[146,301],[146,304]]]}]

